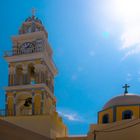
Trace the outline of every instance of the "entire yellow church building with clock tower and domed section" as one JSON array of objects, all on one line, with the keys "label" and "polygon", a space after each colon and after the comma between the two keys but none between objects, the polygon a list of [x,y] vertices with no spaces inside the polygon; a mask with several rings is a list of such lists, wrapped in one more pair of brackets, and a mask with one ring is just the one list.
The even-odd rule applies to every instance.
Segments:
[{"label": "entire yellow church building with clock tower and domed section", "polygon": [[125,91],[110,99],[98,112],[85,136],[69,136],[56,110],[54,78],[57,68],[48,32],[34,14],[12,37],[8,63],[5,109],[0,111],[0,138],[23,140],[140,140],[140,96]]}]

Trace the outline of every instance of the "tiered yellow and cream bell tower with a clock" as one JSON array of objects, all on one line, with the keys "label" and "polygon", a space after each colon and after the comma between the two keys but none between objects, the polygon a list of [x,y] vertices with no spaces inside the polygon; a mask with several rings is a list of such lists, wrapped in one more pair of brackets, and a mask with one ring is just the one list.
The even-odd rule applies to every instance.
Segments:
[{"label": "tiered yellow and cream bell tower with a clock", "polygon": [[54,77],[57,74],[48,33],[34,14],[12,37],[12,50],[4,54],[9,65],[6,115],[52,114],[56,111]]}]

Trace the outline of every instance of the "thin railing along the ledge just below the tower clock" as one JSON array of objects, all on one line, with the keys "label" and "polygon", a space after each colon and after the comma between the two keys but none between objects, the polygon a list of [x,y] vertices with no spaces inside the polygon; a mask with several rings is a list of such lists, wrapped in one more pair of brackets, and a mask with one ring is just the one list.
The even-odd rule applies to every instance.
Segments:
[{"label": "thin railing along the ledge just below the tower clock", "polygon": [[11,57],[11,56],[15,56],[15,55],[31,54],[31,53],[35,53],[35,52],[41,52],[41,51],[43,51],[42,47],[18,49],[18,50],[6,51],[4,53],[4,56]]}]

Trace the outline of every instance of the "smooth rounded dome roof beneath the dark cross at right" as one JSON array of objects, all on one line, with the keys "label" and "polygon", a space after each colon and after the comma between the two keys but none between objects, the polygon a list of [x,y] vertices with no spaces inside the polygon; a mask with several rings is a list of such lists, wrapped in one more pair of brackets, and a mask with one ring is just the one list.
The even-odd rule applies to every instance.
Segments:
[{"label": "smooth rounded dome roof beneath the dark cross at right", "polygon": [[103,109],[107,109],[109,107],[117,106],[117,105],[132,105],[132,104],[140,104],[140,95],[136,94],[122,94],[116,96],[109,100],[103,107]]}]

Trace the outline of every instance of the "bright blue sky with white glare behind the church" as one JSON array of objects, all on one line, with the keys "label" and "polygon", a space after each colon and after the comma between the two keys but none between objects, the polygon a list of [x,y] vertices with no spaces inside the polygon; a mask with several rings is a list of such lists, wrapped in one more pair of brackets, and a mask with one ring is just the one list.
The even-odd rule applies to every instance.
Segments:
[{"label": "bright blue sky with white glare behind the church", "polygon": [[[123,2],[122,2],[123,1]],[[49,33],[59,73],[57,109],[70,134],[86,134],[97,112],[113,96],[140,90],[140,10],[138,0],[2,0],[0,5],[0,107],[7,85],[3,53],[11,36],[37,9]],[[127,6],[126,6],[127,3]],[[136,10],[135,10],[136,9]]]}]

